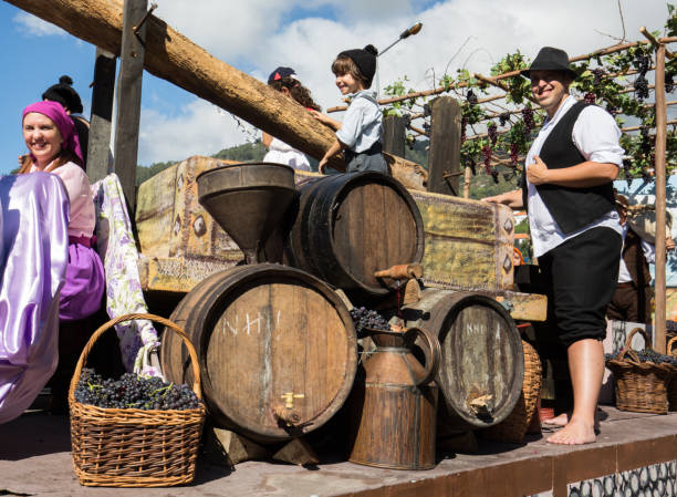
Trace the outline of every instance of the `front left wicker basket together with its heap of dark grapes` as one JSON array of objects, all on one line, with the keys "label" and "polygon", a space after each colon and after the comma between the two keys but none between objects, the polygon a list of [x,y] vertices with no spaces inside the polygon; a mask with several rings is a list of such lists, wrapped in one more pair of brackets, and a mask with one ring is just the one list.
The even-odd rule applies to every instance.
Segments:
[{"label": "front left wicker basket together with its heap of dark grapes", "polygon": [[[84,367],[101,334],[135,319],[157,321],[181,338],[192,362],[191,387],[131,373],[104,380]],[[205,422],[200,371],[190,340],[171,321],[126,314],[97,329],[75,366],[69,405],[73,467],[81,485],[165,487],[192,482]]]}]

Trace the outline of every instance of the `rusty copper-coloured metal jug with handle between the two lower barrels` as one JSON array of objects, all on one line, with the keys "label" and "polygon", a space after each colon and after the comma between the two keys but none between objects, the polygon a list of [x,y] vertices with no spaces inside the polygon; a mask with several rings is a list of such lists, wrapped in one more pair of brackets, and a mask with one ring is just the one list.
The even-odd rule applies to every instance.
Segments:
[{"label": "rusty copper-coloured metal jug with handle between the two lower barrels", "polygon": [[[394,469],[435,467],[437,336],[423,328],[366,330],[376,350],[363,363],[351,398],[352,463]],[[423,340],[425,367],[412,348]]]}]

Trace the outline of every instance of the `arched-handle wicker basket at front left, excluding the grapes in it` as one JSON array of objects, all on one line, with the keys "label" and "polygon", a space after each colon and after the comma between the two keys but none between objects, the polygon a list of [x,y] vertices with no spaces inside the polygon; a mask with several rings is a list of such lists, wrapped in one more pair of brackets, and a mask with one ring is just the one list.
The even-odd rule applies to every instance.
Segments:
[{"label": "arched-handle wicker basket at front left, excluding the grapes in it", "polygon": [[[192,482],[205,421],[205,407],[186,411],[102,408],[75,401],[75,389],[87,355],[98,336],[123,321],[147,319],[178,333],[190,354],[200,395],[200,371],[195,349],[173,322],[153,314],[127,314],[97,329],[75,366],[69,404],[73,467],[81,485],[110,487],[165,487]],[[166,331],[165,331],[166,332]]]}]

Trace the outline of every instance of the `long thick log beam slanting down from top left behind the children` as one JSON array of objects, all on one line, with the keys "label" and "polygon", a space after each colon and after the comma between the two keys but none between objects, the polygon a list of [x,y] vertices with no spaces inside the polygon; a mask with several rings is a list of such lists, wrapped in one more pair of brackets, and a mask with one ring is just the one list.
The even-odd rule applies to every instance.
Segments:
[{"label": "long thick log beam slanting down from top left behind the children", "polygon": [[[116,55],[121,53],[122,0],[52,0],[49,9],[44,0],[7,1],[76,38]],[[145,28],[144,68],[150,74],[236,114],[312,157],[321,158],[332,144],[334,133],[301,104],[210,55],[155,15],[148,15]],[[334,157],[329,165],[344,169],[341,157]],[[413,168],[406,163],[397,166],[398,170]],[[394,168],[393,174],[398,177],[399,173]]]}]

